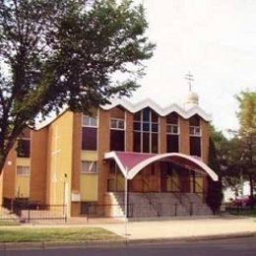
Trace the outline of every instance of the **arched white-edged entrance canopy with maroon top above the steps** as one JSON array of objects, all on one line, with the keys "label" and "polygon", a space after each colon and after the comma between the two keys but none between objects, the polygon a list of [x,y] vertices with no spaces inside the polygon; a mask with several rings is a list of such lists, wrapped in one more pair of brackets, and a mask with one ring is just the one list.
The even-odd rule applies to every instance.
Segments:
[{"label": "arched white-edged entrance canopy with maroon top above the steps", "polygon": [[109,152],[104,156],[105,160],[115,160],[116,164],[127,179],[133,179],[147,165],[159,161],[167,160],[178,165],[193,169],[200,173],[208,174],[214,181],[218,181],[218,175],[206,163],[196,157],[187,156],[180,153],[149,154],[132,152]]}]

